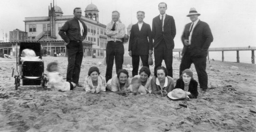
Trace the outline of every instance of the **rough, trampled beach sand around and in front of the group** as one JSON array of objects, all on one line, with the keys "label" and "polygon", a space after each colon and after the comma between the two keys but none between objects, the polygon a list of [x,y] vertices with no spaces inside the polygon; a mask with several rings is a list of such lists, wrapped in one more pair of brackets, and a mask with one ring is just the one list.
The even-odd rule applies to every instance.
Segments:
[{"label": "rough, trampled beach sand around and in front of the group", "polygon": [[[45,67],[57,60],[61,75],[66,76],[66,57],[43,60]],[[105,76],[105,65],[99,65],[99,61],[102,59],[83,59],[79,84],[83,84],[91,66],[99,67]],[[180,61],[173,61],[176,81]],[[82,88],[52,92],[22,86],[15,91],[12,66],[16,70],[16,58],[0,58],[0,131],[256,131],[256,113],[250,112],[256,111],[255,64],[207,62],[209,91],[199,90],[198,99],[190,101],[173,101],[153,94],[85,94]],[[150,66],[151,72],[153,68]],[[198,80],[194,66],[191,69]]]}]

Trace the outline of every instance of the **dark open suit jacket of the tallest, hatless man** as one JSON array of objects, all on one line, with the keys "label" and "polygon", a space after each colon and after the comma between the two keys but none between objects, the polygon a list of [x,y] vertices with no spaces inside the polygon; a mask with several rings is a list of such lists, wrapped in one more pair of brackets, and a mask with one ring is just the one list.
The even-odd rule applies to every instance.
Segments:
[{"label": "dark open suit jacket of the tallest, hatless man", "polygon": [[164,39],[167,49],[174,48],[174,37],[176,35],[175,22],[172,16],[166,14],[164,19],[164,31],[160,22],[159,15],[153,18],[152,23],[152,37],[154,39],[153,47],[156,48]]}]

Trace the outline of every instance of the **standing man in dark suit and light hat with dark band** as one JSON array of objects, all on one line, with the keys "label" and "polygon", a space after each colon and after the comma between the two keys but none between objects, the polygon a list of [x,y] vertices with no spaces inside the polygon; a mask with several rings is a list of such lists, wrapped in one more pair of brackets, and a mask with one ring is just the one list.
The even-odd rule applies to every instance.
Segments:
[{"label": "standing man in dark suit and light hat with dark band", "polygon": [[200,89],[207,91],[208,76],[206,73],[207,50],[213,41],[213,36],[209,25],[198,19],[200,16],[195,8],[191,8],[187,17],[192,23],[185,26],[181,36],[184,45],[182,60],[180,64],[180,75],[183,70],[189,69],[194,63],[198,75]]}]

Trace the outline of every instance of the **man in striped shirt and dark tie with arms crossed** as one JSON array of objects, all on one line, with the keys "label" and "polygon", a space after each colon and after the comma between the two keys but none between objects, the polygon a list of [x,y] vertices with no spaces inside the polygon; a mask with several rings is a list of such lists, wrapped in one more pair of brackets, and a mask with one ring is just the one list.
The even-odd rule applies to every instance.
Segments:
[{"label": "man in striped shirt and dark tie with arms crossed", "polygon": [[123,68],[124,44],[122,38],[125,35],[125,25],[119,21],[120,13],[112,12],[112,21],[106,26],[107,47],[106,47],[106,81],[112,78],[114,57],[116,73]]}]

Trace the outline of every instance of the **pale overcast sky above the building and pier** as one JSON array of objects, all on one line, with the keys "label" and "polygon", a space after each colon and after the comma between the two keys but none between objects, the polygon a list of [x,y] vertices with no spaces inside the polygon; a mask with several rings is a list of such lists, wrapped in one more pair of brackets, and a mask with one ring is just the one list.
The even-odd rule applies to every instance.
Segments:
[{"label": "pale overcast sky above the building and pier", "polygon": [[[52,0],[1,0],[0,40],[4,33],[14,29],[25,30],[25,17],[48,16]],[[159,15],[158,3],[166,2],[166,14],[175,19],[177,34],[175,48],[182,48],[181,34],[190,20],[186,15],[191,7],[201,14],[199,19],[209,24],[213,33],[211,47],[256,46],[256,0],[92,0],[99,9],[99,22],[111,21],[111,12],[118,10],[121,21],[128,27],[137,23],[136,12],[144,11],[144,22],[152,25],[152,19]],[[73,15],[75,7],[82,11],[91,0],[57,0],[63,15]],[[85,13],[82,12],[84,16]],[[5,35],[4,35],[5,37]],[[5,38],[4,38],[5,40]]]}]

